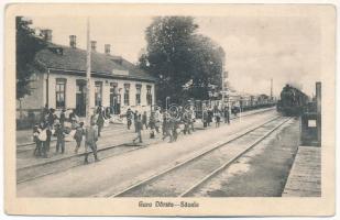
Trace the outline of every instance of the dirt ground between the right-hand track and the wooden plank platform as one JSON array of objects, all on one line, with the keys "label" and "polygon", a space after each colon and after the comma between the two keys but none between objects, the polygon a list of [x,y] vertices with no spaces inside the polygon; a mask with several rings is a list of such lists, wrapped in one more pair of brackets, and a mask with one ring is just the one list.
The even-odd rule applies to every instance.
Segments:
[{"label": "dirt ground between the right-hand track and the wooden plank platform", "polygon": [[299,122],[292,120],[207,182],[196,197],[281,197],[299,145]]}]

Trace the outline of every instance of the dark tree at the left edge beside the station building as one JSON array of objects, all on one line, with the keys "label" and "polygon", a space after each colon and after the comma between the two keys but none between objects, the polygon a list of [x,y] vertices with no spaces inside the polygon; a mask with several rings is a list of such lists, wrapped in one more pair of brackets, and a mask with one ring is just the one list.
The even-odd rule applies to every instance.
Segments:
[{"label": "dark tree at the left edge beside the station building", "polygon": [[32,21],[15,18],[17,29],[17,99],[31,94],[30,81],[34,72],[43,67],[35,62],[35,54],[45,47],[45,42],[35,36],[34,30],[30,28]]}]

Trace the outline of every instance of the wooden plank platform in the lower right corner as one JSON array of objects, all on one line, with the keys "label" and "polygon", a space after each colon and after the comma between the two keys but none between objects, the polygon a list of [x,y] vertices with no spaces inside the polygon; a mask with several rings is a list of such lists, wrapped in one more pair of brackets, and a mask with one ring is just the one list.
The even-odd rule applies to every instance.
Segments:
[{"label": "wooden plank platform in the lower right corner", "polygon": [[321,147],[299,146],[283,197],[321,196]]}]

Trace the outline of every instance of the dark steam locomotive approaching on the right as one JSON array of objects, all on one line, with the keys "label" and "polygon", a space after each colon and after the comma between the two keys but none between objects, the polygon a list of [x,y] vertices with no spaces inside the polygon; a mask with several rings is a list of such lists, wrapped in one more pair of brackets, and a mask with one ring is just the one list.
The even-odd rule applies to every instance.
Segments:
[{"label": "dark steam locomotive approaching on the right", "polygon": [[309,101],[309,97],[298,88],[286,85],[279,95],[277,111],[287,117],[298,117]]}]

